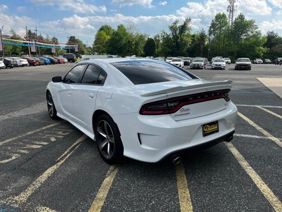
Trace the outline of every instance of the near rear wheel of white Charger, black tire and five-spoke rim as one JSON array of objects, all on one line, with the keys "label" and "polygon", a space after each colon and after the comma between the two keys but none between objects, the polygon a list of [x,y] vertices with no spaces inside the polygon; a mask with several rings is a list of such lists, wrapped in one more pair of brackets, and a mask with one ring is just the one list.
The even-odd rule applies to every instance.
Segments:
[{"label": "near rear wheel of white Charger, black tire and five-spoke rim", "polygon": [[95,123],[95,137],[103,160],[110,164],[119,163],[123,158],[123,144],[116,124],[109,115],[98,117]]}]

